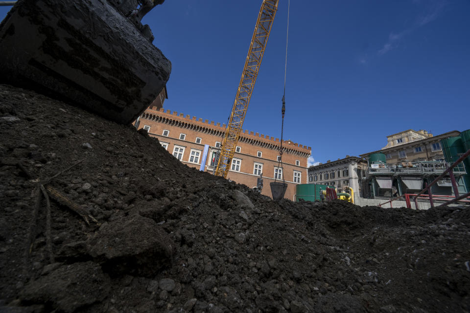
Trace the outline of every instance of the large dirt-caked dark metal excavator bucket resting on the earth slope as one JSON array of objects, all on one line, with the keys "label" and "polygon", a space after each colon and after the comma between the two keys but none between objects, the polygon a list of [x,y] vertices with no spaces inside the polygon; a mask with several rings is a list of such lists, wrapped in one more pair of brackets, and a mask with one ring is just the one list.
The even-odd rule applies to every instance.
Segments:
[{"label": "large dirt-caked dark metal excavator bucket resting on the earth slope", "polygon": [[157,98],[171,71],[152,45],[148,25],[129,17],[138,4],[17,1],[0,23],[0,82],[132,122]]}]

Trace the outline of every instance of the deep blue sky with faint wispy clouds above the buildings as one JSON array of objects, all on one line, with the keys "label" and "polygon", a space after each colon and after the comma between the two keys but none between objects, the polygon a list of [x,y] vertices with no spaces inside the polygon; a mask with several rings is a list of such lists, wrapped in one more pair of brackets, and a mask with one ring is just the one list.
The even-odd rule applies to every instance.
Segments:
[{"label": "deep blue sky with faint wispy clouds above the buildings", "polygon": [[[227,122],[261,2],[166,0],[144,18],[173,65],[165,109]],[[274,137],[287,3],[280,0],[243,125]],[[292,0],[284,139],[325,162],[378,150],[407,129],[469,129],[469,16],[468,0]]]}]

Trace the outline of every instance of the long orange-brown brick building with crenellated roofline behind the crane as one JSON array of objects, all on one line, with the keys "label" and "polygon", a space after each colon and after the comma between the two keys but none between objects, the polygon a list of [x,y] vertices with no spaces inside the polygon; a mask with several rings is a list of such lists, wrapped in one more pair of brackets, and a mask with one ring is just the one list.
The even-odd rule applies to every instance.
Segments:
[{"label": "long orange-brown brick building with crenellated roofline behind the crane", "polygon": [[[169,110],[165,112],[159,106],[145,110],[137,128],[144,128],[149,135],[157,137],[166,151],[181,162],[210,173],[217,165],[214,164],[214,156],[225,134],[225,124],[221,126],[220,123],[203,121],[196,116]],[[245,130],[240,134],[227,178],[253,188],[262,173],[264,187],[261,193],[271,197],[269,183],[275,180],[275,175],[278,181],[282,180],[283,174],[287,183],[284,198],[294,200],[295,185],[306,183],[311,148],[290,140],[284,141],[282,169],[278,161],[279,148],[279,138]],[[207,157],[204,158],[204,155]]]}]

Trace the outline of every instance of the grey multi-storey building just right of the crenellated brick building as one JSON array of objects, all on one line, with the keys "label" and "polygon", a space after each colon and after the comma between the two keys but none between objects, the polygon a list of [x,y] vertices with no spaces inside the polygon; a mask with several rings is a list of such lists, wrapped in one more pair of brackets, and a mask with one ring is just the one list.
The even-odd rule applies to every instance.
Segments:
[{"label": "grey multi-storey building just right of the crenellated brick building", "polygon": [[327,161],[308,168],[308,183],[324,184],[338,190],[349,186],[355,198],[362,195],[361,179],[367,169],[367,162],[357,156],[346,156],[336,161]]}]

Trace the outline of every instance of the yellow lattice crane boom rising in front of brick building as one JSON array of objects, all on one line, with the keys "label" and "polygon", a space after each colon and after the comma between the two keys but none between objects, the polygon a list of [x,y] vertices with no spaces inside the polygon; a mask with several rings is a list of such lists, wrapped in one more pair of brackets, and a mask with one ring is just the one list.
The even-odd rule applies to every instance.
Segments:
[{"label": "yellow lattice crane boom rising in front of brick building", "polygon": [[236,91],[234,106],[230,113],[229,122],[225,130],[222,148],[215,169],[216,176],[227,178],[230,169],[230,162],[235,154],[236,144],[240,136],[246,110],[250,103],[253,87],[258,76],[259,66],[263,59],[264,49],[268,42],[274,16],[278,9],[279,0],[263,0],[259,9],[258,20],[256,21],[255,32],[251,39],[248,56],[241,74],[240,84]]}]

